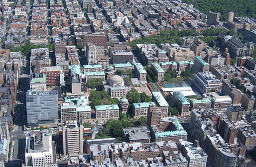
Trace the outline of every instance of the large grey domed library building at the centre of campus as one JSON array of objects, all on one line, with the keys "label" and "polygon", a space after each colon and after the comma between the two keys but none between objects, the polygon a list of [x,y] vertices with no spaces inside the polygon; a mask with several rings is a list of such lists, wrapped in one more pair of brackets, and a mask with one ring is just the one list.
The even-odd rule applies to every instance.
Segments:
[{"label": "large grey domed library building at the centre of campus", "polygon": [[103,88],[109,92],[111,98],[126,97],[128,92],[124,79],[117,75],[112,76],[107,82],[103,82]]}]

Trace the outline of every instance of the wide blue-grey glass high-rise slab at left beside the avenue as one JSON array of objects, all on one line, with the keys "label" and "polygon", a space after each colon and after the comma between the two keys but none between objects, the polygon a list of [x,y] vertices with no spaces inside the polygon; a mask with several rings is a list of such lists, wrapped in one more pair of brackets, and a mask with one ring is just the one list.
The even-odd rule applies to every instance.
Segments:
[{"label": "wide blue-grey glass high-rise slab at left beside the avenue", "polygon": [[58,123],[58,92],[27,90],[26,93],[27,124],[38,127],[38,124]]}]

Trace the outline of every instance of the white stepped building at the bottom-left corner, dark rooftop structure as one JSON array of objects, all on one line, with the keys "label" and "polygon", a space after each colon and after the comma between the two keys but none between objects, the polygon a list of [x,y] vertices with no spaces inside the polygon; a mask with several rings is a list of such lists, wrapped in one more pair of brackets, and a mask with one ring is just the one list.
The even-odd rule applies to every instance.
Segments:
[{"label": "white stepped building at the bottom-left corner, dark rooftop structure", "polygon": [[55,142],[42,131],[28,132],[26,136],[25,164],[32,167],[57,167]]}]

